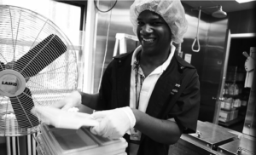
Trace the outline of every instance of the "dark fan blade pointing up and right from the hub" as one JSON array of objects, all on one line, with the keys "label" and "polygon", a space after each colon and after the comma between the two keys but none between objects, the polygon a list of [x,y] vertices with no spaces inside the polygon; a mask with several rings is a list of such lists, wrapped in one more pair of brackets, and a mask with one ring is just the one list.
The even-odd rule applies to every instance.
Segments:
[{"label": "dark fan blade pointing up and right from the hub", "polygon": [[24,78],[31,78],[66,51],[67,46],[61,41],[61,38],[51,34],[17,60],[14,69],[20,72]]}]

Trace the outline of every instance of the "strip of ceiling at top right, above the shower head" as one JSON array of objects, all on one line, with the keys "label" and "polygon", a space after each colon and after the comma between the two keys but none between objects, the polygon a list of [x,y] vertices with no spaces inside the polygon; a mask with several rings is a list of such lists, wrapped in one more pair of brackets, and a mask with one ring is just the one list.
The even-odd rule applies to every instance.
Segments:
[{"label": "strip of ceiling at top right, above the shower head", "polygon": [[[201,0],[201,1],[193,1],[193,0],[181,0],[182,3],[186,3],[192,8],[198,8],[198,7],[213,7],[217,5],[221,5],[222,9],[227,12],[235,12],[235,11],[241,11],[246,9],[256,9],[256,0],[249,3],[237,3],[235,0],[229,0],[229,1],[220,1],[220,0]],[[216,11],[216,9],[205,9],[202,10],[206,14],[212,14],[212,12]]]}]

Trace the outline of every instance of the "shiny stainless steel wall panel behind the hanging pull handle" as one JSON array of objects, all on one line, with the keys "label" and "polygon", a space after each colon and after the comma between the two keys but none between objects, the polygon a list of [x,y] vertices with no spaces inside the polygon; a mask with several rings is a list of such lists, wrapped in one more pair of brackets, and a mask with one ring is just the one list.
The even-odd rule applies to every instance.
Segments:
[{"label": "shiny stainless steel wall panel behind the hanging pull handle", "polygon": [[[202,13],[199,24],[199,38],[201,50],[192,52],[191,45],[196,36],[198,11],[190,11],[189,6],[184,5],[189,29],[182,43],[183,54],[192,55],[191,64],[195,66],[201,83],[201,109],[199,120],[212,122],[215,106],[220,95],[223,78],[227,19],[216,19],[211,15]],[[196,49],[196,47],[195,47]]]}]

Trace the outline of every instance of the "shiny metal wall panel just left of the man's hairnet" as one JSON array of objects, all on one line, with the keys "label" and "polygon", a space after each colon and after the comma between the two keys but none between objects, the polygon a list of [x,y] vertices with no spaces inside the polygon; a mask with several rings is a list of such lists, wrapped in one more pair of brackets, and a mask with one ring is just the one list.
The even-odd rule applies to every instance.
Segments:
[{"label": "shiny metal wall panel just left of the man's hairnet", "polygon": [[[107,10],[111,6],[113,6],[113,3],[114,1],[100,0],[99,9]],[[114,8],[108,13],[97,13],[94,92],[98,91],[98,85],[100,83],[102,69],[104,70],[108,66],[109,62],[113,59],[115,34],[126,33],[134,35],[134,33],[132,32],[131,21],[129,18],[129,9],[132,3],[133,1],[131,0],[118,1]],[[127,42],[127,51],[135,48],[136,43],[129,41]],[[107,51],[106,61],[104,63],[104,67],[102,67],[105,51]]]}]

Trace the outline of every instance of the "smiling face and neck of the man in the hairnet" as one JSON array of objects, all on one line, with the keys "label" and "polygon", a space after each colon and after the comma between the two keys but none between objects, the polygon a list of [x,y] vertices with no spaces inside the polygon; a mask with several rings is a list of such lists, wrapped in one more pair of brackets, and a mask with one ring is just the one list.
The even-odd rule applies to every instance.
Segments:
[{"label": "smiling face and neck of the man in the hairnet", "polygon": [[170,55],[172,32],[159,14],[145,10],[137,17],[137,37],[142,44],[139,65],[148,77]]}]

